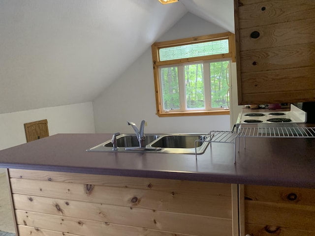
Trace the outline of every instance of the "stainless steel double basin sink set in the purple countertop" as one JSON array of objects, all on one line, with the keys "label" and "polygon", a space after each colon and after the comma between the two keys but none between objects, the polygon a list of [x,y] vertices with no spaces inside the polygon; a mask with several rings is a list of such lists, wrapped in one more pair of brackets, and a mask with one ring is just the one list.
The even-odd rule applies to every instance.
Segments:
[{"label": "stainless steel double basin sink set in the purple countertop", "polygon": [[202,154],[210,141],[210,137],[206,134],[146,134],[145,136],[145,148],[139,147],[135,134],[121,134],[116,137],[118,150],[113,150],[113,144],[108,140],[87,151]]}]

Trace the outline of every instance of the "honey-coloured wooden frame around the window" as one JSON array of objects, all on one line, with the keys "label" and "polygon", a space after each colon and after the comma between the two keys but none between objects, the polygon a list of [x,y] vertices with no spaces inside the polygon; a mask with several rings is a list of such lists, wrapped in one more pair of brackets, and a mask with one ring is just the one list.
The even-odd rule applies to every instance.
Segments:
[{"label": "honey-coloured wooden frame around the window", "polygon": [[[181,46],[193,43],[202,43],[209,41],[217,41],[227,39],[229,45],[229,52],[224,54],[192,57],[185,59],[172,59],[172,60],[159,60],[158,50],[161,48]],[[161,84],[159,79],[159,68],[169,65],[186,64],[193,62],[204,62],[213,60],[230,59],[235,62],[235,36],[231,32],[203,35],[197,37],[176,39],[164,42],[156,42],[151,46],[152,49],[152,59],[153,59],[153,73],[154,73],[154,84],[155,84],[155,95],[156,95],[156,107],[158,117],[177,117],[177,116],[206,116],[206,115],[229,115],[229,110],[194,110],[194,111],[178,111],[178,112],[164,112],[161,104]]]}]

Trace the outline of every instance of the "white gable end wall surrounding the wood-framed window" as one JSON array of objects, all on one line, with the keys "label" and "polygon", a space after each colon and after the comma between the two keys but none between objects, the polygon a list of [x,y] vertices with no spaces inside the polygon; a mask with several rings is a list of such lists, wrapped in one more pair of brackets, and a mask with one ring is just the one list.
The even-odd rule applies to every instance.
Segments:
[{"label": "white gable end wall surrounding the wood-framed window", "polygon": [[[158,41],[224,32],[201,18],[186,14]],[[132,133],[126,120],[147,121],[146,133],[230,130],[229,115],[167,117],[156,115],[151,47],[93,101],[96,133]]]}]

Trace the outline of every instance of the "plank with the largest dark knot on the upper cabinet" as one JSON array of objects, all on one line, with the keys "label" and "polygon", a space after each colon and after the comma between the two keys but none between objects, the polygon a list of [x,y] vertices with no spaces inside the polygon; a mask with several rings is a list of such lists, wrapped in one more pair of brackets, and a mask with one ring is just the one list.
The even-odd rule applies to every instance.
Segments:
[{"label": "plank with the largest dark knot on the upper cabinet", "polygon": [[[311,44],[315,38],[314,25],[315,18],[290,22],[290,24],[281,23],[240,29],[240,51]],[[251,38],[253,31],[258,31],[260,36]]]}]

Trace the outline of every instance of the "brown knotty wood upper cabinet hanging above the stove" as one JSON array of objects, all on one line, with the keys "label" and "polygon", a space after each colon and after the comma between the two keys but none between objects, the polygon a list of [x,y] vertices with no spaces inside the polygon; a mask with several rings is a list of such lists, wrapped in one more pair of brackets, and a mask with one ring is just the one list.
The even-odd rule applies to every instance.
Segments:
[{"label": "brown knotty wood upper cabinet hanging above the stove", "polygon": [[315,0],[234,0],[238,103],[315,101]]}]

